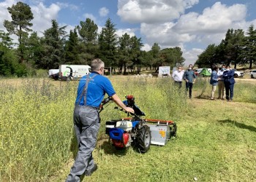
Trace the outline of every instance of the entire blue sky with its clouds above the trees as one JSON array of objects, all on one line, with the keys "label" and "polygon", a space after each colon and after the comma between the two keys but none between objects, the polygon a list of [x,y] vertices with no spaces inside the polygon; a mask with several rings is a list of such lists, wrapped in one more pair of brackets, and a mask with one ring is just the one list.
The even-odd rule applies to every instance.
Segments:
[{"label": "entire blue sky with its clouds above the trees", "polygon": [[[0,30],[11,20],[7,7],[16,0],[0,1]],[[110,17],[117,34],[141,37],[143,50],[154,43],[163,49],[181,47],[185,65],[195,63],[208,44],[219,44],[228,28],[256,28],[255,0],[23,0],[34,13],[33,29],[50,28],[50,20],[67,25],[67,32],[85,21],[94,20],[99,32]],[[14,37],[15,38],[15,37]]]}]

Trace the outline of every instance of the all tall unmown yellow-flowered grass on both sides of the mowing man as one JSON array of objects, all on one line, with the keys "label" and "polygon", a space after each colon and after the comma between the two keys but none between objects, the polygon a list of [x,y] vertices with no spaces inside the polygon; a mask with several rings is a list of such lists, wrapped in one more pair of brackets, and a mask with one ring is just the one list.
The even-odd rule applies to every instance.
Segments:
[{"label": "all tall unmown yellow-flowered grass on both sides of the mowing man", "polygon": [[[69,148],[76,146],[72,111],[78,82],[59,83],[54,87],[47,79],[23,79],[20,87],[1,83],[1,180],[45,181],[70,159]],[[178,94],[170,80],[127,79],[113,84],[122,100],[134,95],[151,118],[177,119],[178,110],[186,108],[184,93]],[[102,121],[126,116],[113,107],[112,103],[105,108]],[[102,127],[100,135],[103,132]]]}]

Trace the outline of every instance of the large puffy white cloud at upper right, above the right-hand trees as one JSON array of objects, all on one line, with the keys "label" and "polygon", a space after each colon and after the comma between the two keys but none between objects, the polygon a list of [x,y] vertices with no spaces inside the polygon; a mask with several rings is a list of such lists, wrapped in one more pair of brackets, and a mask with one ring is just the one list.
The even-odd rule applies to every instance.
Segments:
[{"label": "large puffy white cloud at upper right, above the right-hand trees", "polygon": [[245,17],[246,6],[244,4],[227,7],[217,2],[212,7],[204,9],[202,15],[196,12],[181,15],[173,29],[181,33],[223,33],[234,23],[245,20]]}]

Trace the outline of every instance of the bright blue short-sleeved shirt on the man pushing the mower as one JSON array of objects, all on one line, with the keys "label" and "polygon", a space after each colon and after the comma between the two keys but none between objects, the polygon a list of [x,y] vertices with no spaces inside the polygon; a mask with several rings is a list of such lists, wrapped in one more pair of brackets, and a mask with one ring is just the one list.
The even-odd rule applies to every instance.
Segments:
[{"label": "bright blue short-sleeved shirt on the man pushing the mower", "polygon": [[[95,74],[97,74],[97,76],[94,76]],[[107,77],[102,76],[97,72],[92,72],[91,74],[89,74],[89,77],[91,78],[92,76],[94,76],[94,78],[91,79],[91,81],[88,84],[86,104],[83,103],[84,96],[82,96],[80,102],[78,103],[80,95],[83,93],[84,87],[86,87],[86,76],[83,76],[78,84],[78,95],[75,100],[75,104],[78,104],[80,106],[86,105],[99,107],[100,103],[104,98],[105,93],[107,93],[110,97],[116,94],[110,80]]]}]

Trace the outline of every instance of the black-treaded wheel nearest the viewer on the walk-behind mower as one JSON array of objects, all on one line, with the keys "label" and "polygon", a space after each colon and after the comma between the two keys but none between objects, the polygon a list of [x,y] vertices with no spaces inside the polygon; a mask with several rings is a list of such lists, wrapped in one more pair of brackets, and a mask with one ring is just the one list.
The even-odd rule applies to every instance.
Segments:
[{"label": "black-treaded wheel nearest the viewer on the walk-behind mower", "polygon": [[150,149],[151,131],[150,127],[143,125],[137,135],[137,148],[140,153],[146,153]]}]

